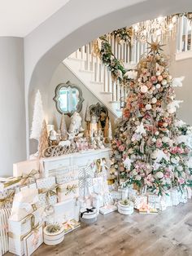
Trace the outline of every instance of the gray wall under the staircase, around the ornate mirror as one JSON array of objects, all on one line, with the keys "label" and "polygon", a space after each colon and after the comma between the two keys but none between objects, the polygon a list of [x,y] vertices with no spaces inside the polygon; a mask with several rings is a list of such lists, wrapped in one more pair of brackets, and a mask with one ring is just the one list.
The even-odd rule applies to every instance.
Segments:
[{"label": "gray wall under the staircase, around the ornate mirror", "polygon": [[[53,74],[50,84],[48,86],[38,86],[35,90],[33,90],[33,96],[30,98],[30,117],[33,117],[33,102],[34,96],[39,89],[41,91],[43,108],[45,112],[46,121],[49,124],[55,125],[55,130],[59,129],[61,114],[57,111],[55,107],[55,101],[53,100],[55,96],[55,88],[59,85],[59,83],[66,83],[70,81],[72,84],[75,84],[82,90],[82,96],[84,98],[84,102],[81,110],[81,117],[83,121],[83,127],[85,128],[85,111],[86,106],[91,104],[97,104],[99,100],[84,86],[84,84],[64,65],[59,64],[58,68],[56,68],[55,73]],[[100,103],[100,102],[99,102]],[[100,103],[101,104],[101,103]],[[111,125],[114,126],[115,117],[112,113],[109,113],[111,118]],[[70,117],[65,115],[65,120],[67,126],[70,125]],[[29,124],[31,126],[32,118],[30,118]],[[30,153],[37,151],[37,143],[33,139],[30,140]]]}]

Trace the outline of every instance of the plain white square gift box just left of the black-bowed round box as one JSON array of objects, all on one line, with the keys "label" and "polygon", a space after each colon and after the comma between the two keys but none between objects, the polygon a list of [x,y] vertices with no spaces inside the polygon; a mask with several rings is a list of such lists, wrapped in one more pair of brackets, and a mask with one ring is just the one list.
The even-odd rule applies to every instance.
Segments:
[{"label": "plain white square gift box just left of the black-bowed round box", "polygon": [[57,203],[54,205],[54,210],[53,223],[65,223],[72,218],[79,220],[80,205],[77,204],[76,199]]}]

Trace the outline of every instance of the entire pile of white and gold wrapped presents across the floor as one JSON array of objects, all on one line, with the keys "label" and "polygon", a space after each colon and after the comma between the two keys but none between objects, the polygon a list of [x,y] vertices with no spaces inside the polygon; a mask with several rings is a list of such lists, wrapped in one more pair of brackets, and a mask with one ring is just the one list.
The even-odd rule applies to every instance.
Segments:
[{"label": "entire pile of white and gold wrapped presents across the floor", "polygon": [[109,184],[110,161],[59,167],[45,176],[38,160],[13,165],[13,177],[0,179],[0,255],[10,251],[31,255],[44,242],[58,245],[81,223],[94,223],[98,214],[157,213],[185,203],[191,190],[168,195],[138,194],[137,189]]}]

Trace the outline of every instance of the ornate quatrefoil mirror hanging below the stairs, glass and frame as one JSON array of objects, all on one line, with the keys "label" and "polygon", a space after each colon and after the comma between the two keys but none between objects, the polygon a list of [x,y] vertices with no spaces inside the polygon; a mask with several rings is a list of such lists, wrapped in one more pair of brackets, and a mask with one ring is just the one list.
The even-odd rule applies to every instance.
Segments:
[{"label": "ornate quatrefoil mirror hanging below the stairs, glass and frame", "polygon": [[54,100],[58,112],[68,114],[69,117],[75,112],[81,112],[84,101],[81,89],[69,81],[56,87]]}]

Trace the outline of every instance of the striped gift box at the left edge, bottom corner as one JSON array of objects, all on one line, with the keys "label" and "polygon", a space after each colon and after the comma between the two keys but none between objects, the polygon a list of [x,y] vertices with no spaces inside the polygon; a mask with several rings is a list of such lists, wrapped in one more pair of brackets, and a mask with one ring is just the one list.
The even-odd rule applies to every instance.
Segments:
[{"label": "striped gift box at the left edge, bottom corner", "polygon": [[6,254],[8,245],[8,218],[11,214],[11,209],[0,210],[0,255]]}]

